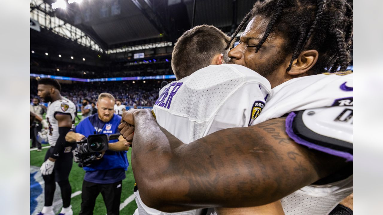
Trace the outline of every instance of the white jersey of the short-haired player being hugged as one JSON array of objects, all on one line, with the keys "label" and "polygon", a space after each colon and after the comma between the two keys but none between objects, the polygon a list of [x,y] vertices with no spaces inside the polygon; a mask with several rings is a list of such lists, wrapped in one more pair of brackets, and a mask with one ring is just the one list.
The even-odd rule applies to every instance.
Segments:
[{"label": "white jersey of the short-haired player being hugged", "polygon": [[[160,90],[153,113],[160,126],[183,143],[221,129],[246,127],[270,98],[268,80],[241,65],[210,65]],[[138,185],[139,188],[139,185]],[[136,194],[139,215],[196,215],[200,210],[164,213],[147,207]]]}]

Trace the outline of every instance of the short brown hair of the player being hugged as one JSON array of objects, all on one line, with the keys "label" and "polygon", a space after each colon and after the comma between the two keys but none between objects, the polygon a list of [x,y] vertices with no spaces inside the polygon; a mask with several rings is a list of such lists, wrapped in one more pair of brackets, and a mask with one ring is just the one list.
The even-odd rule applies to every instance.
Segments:
[{"label": "short brown hair of the player being hugged", "polygon": [[216,54],[228,60],[230,37],[212,25],[199,25],[178,38],[172,53],[172,69],[177,80],[211,64]]}]

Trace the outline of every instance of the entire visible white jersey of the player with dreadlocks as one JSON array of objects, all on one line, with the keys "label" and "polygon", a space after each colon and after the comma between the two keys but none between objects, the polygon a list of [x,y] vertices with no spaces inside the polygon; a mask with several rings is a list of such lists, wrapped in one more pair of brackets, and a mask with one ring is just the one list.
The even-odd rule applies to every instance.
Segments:
[{"label": "entire visible white jersey of the player with dreadlocks", "polygon": [[[270,101],[267,102],[267,106],[262,111],[262,114],[255,119],[253,125],[282,117],[292,111],[313,109],[318,114],[316,108],[332,106],[334,106],[332,109],[335,109],[335,111],[342,112],[339,109],[352,110],[353,76],[353,73],[350,72],[337,72],[310,75],[286,81],[272,89]],[[339,112],[335,114],[339,114]],[[349,129],[351,129],[351,135],[343,134],[342,137],[336,137],[337,133],[342,133],[342,131],[332,131],[333,134],[330,135],[331,130],[327,132],[328,127],[333,126],[336,116],[338,115],[331,116],[332,118],[328,119],[326,115],[320,117],[320,119],[317,118],[314,121],[316,125],[309,125],[308,123],[312,122],[308,119],[304,123],[317,134],[322,133],[321,135],[352,143],[352,119],[351,123],[340,128],[345,129],[344,133],[347,134],[350,133]],[[307,118],[307,116],[304,117]],[[283,198],[282,206],[286,215],[327,215],[342,199],[352,192],[353,176],[349,176],[347,179],[330,184],[303,187]]]}]

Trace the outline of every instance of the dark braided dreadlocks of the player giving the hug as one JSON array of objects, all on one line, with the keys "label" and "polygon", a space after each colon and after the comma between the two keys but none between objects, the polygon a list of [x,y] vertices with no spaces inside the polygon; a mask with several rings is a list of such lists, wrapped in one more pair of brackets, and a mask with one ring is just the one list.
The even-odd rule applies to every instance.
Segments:
[{"label": "dark braided dreadlocks of the player giving the hug", "polygon": [[353,10],[346,0],[257,1],[239,24],[231,41],[256,15],[269,18],[270,21],[255,52],[258,52],[270,33],[283,34],[287,39],[283,50],[285,54],[292,54],[286,71],[290,71],[293,61],[303,50],[309,49],[319,52],[318,61],[311,70],[313,74],[335,72],[339,66],[340,70],[346,70],[350,64]]}]

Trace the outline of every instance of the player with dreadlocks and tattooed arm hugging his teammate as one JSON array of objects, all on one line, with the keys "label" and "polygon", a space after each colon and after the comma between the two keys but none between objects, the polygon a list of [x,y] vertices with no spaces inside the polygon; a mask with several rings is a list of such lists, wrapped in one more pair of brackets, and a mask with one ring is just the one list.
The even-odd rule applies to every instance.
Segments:
[{"label": "player with dreadlocks and tattooed arm hugging his teammate", "polygon": [[234,36],[247,22],[230,63],[273,88],[263,110],[254,102],[251,126],[183,144],[151,112],[123,114],[128,142],[134,124],[133,173],[149,207],[175,212],[282,199],[285,214],[326,215],[352,193],[353,75],[345,71],[352,8],[345,0],[265,0]]}]

